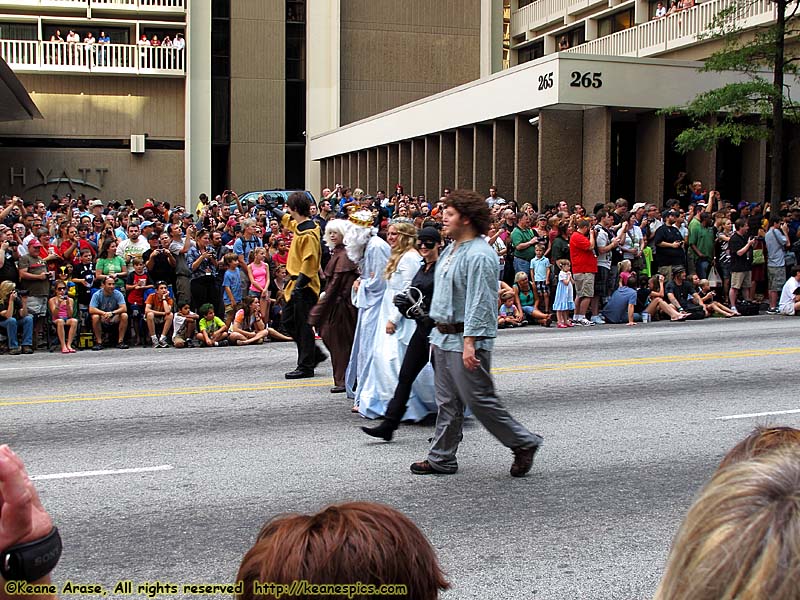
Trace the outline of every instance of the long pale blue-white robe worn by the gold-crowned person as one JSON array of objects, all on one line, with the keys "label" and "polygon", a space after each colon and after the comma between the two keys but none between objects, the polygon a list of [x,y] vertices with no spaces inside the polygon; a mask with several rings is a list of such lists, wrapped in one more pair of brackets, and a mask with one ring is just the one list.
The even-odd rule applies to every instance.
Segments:
[{"label": "long pale blue-white robe worn by the gold-crowned person", "polygon": [[[361,283],[354,294],[353,305],[358,309],[358,321],[350,351],[350,362],[345,373],[347,397],[356,397],[355,388],[364,378],[372,363],[375,347],[375,332],[379,327],[381,301],[386,290],[383,272],[389,262],[391,248],[377,235],[372,236],[364,250],[364,258],[359,263]],[[384,327],[386,323],[384,322]]]}]

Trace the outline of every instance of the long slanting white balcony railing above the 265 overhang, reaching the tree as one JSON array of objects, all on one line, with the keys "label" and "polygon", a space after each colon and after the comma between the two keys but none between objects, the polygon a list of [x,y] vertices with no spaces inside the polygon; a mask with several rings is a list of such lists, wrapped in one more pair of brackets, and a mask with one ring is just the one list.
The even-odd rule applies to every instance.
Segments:
[{"label": "long slanting white balcony railing above the 265 overhang, reaching the tree", "polygon": [[[634,57],[663,54],[696,44],[698,36],[709,31],[709,24],[716,15],[734,4],[741,6],[736,0],[710,0],[676,14],[574,46],[566,52]],[[743,29],[768,23],[776,17],[775,4],[770,0],[748,3],[736,15],[737,23]]]}]

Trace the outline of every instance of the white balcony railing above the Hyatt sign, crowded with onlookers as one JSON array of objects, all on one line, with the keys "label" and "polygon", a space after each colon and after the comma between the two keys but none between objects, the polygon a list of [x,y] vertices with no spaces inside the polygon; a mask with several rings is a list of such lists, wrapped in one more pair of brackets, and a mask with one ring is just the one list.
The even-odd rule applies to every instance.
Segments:
[{"label": "white balcony railing above the Hyatt sign, crowded with onlookers", "polygon": [[186,50],[169,46],[0,40],[0,55],[21,73],[183,76],[186,71]]}]

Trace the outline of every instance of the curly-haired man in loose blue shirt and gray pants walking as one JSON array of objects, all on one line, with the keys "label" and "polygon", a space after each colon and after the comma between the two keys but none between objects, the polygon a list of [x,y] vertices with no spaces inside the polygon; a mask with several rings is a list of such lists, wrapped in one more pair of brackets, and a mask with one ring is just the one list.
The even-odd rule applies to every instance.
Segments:
[{"label": "curly-haired man in loose blue shirt and gray pants walking", "polygon": [[454,190],[445,201],[445,234],[453,239],[439,258],[430,317],[439,413],[428,458],[411,465],[416,475],[458,470],[464,409],[514,453],[511,475],[533,466],[542,437],[517,422],[497,399],[491,351],[497,336],[497,253],[483,239],[490,209],[474,191]]}]

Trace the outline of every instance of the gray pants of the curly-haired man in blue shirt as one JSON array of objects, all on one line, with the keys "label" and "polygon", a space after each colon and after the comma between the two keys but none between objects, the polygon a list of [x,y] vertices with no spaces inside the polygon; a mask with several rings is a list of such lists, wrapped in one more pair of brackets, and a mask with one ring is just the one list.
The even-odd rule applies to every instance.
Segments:
[{"label": "gray pants of the curly-haired man in blue shirt", "polygon": [[489,374],[492,355],[477,350],[480,366],[474,371],[464,366],[461,352],[449,352],[433,347],[436,373],[436,432],[428,452],[428,462],[437,471],[453,473],[458,469],[456,451],[464,437],[464,408],[469,407],[475,418],[494,437],[508,448],[530,448],[542,443],[541,436],[531,433],[500,404]]}]

